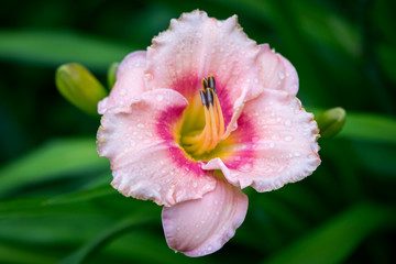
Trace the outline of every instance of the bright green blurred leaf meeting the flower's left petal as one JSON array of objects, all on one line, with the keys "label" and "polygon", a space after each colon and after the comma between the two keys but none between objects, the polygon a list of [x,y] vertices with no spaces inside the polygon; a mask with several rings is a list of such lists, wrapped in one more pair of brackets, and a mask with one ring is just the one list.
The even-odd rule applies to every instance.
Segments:
[{"label": "bright green blurred leaf meeting the flower's left petal", "polygon": [[95,139],[52,140],[0,168],[0,196],[31,184],[108,166],[107,160],[98,156]]}]

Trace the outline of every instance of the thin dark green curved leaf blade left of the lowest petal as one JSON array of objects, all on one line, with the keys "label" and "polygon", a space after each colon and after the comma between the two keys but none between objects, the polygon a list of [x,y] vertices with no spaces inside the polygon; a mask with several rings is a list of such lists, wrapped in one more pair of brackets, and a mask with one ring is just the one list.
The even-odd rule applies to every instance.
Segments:
[{"label": "thin dark green curved leaf blade left of the lowest petal", "polygon": [[85,258],[87,258],[90,254],[92,254],[95,251],[99,250],[101,246],[103,246],[107,242],[111,241],[114,237],[121,234],[122,232],[125,232],[127,230],[130,230],[132,228],[139,228],[142,224],[147,224],[153,221],[152,216],[133,216],[130,218],[127,218],[119,223],[117,223],[114,227],[111,227],[110,229],[103,231],[98,237],[92,239],[87,244],[82,245],[79,250],[77,250],[75,253],[70,254],[66,258],[64,258],[59,264],[77,264],[81,263]]}]

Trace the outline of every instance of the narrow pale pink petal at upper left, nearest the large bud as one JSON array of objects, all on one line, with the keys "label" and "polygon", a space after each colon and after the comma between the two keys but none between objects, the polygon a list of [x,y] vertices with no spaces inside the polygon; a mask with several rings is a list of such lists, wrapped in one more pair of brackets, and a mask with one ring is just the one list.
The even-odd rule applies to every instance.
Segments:
[{"label": "narrow pale pink petal at upper left, nearest the large bud", "polygon": [[98,105],[100,114],[112,107],[129,106],[134,98],[144,92],[145,61],[146,52],[134,52],[121,62],[117,72],[117,81],[110,96]]}]

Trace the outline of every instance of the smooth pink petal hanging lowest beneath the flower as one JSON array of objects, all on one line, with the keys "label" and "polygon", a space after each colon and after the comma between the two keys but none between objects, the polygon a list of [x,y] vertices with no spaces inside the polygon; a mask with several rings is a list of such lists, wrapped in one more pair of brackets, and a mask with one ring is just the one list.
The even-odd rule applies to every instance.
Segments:
[{"label": "smooth pink petal hanging lowest beneath the flower", "polygon": [[163,226],[169,248],[188,256],[218,251],[235,233],[248,211],[248,197],[224,179],[202,199],[163,209]]}]

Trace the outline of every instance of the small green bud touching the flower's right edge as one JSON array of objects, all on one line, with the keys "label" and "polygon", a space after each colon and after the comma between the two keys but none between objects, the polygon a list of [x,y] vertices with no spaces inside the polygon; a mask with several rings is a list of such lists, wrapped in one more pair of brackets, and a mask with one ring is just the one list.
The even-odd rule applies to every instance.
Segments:
[{"label": "small green bud touching the flower's right edge", "polygon": [[334,136],[342,130],[346,119],[346,112],[343,108],[331,108],[320,113],[316,121],[319,125],[320,136]]}]

